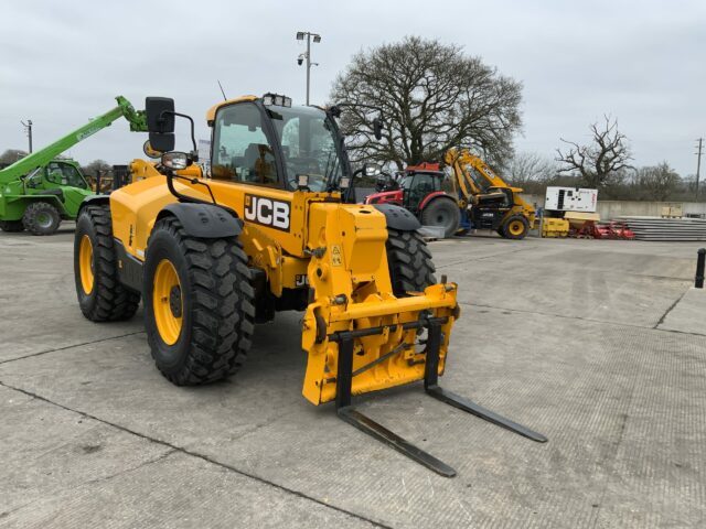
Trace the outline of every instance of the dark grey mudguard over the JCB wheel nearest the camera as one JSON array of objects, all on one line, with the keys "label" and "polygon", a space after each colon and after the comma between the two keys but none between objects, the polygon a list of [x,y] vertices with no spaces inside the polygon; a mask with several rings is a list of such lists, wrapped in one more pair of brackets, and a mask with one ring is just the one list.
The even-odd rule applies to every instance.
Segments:
[{"label": "dark grey mudguard over the JCB wheel nearest the camera", "polygon": [[176,203],[169,204],[160,212],[158,219],[165,215],[179,218],[192,237],[218,239],[235,237],[243,231],[243,223],[226,209],[212,204]]}]

